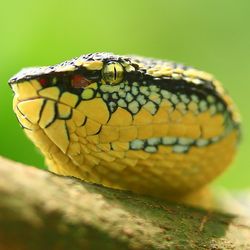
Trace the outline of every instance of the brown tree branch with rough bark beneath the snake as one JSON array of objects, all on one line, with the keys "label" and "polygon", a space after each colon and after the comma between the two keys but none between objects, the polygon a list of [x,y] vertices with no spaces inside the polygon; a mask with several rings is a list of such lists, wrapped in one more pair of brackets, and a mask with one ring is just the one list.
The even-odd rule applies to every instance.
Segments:
[{"label": "brown tree branch with rough bark beneath the snake", "polygon": [[250,218],[113,190],[0,158],[0,249],[250,249]]}]

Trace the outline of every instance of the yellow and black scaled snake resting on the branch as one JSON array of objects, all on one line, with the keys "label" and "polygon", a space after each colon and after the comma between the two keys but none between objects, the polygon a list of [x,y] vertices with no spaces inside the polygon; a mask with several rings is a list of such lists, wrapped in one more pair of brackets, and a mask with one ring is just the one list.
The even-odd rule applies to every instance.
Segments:
[{"label": "yellow and black scaled snake resting on the branch", "polygon": [[91,53],[24,68],[9,85],[21,127],[59,175],[181,200],[237,150],[232,98],[213,75],[181,63]]}]

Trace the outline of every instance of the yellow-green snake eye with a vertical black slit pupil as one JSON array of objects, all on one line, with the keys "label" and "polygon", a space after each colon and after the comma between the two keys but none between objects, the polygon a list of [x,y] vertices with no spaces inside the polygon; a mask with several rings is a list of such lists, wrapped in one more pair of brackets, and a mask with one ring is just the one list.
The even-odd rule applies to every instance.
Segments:
[{"label": "yellow-green snake eye with a vertical black slit pupil", "polygon": [[102,76],[105,82],[116,84],[120,83],[124,77],[124,70],[120,63],[109,62],[102,71]]}]

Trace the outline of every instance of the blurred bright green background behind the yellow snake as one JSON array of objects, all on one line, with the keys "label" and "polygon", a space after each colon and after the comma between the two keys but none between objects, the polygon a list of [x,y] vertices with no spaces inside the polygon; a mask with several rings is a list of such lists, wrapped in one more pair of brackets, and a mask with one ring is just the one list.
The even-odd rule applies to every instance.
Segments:
[{"label": "blurred bright green background behind the yellow snake", "polygon": [[7,81],[21,68],[97,51],[139,54],[204,69],[224,83],[244,131],[215,184],[250,186],[250,1],[14,0],[1,1],[0,12],[0,155],[44,166],[12,112]]}]

